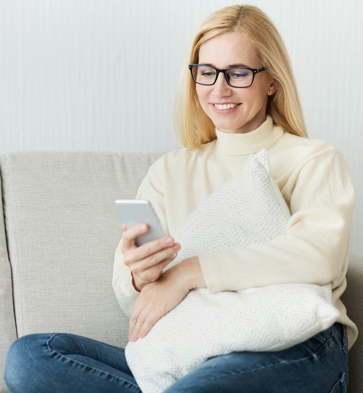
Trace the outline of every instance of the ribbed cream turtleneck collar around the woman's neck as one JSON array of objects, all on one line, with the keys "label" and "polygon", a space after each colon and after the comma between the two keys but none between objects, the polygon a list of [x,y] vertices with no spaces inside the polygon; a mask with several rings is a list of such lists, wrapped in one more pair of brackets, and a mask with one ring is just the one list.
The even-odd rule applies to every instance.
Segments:
[{"label": "ribbed cream turtleneck collar around the woman's neck", "polygon": [[266,114],[266,120],[256,130],[245,134],[230,134],[216,127],[216,148],[225,156],[243,156],[255,154],[261,149],[268,149],[284,134],[284,130],[273,125],[272,118]]}]

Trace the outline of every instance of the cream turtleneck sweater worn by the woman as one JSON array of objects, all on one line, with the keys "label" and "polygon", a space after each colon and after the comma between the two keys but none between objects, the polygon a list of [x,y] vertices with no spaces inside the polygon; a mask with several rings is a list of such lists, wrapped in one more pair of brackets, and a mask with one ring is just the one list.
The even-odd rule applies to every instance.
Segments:
[{"label": "cream turtleneck sweater worn by the woman", "polygon": [[[346,288],[350,222],[356,200],[350,169],[330,143],[295,136],[273,125],[271,116],[256,130],[217,138],[195,149],[181,148],[158,158],[141,182],[136,199],[151,202],[166,234],[175,236],[184,220],[234,176],[250,153],[267,149],[271,172],[291,218],[286,235],[229,252],[199,254],[210,293],[281,283],[332,284],[338,322],[348,327],[348,349],[358,330],[341,300]],[[140,294],[131,270],[115,252],[112,287],[127,316]]]}]

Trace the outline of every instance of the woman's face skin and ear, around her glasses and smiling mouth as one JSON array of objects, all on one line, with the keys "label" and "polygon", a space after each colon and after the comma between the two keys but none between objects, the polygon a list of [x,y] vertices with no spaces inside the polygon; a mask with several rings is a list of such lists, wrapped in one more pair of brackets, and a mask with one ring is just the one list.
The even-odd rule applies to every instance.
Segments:
[{"label": "woman's face skin and ear, around her glasses and smiling mouth", "polygon": [[[248,68],[262,68],[262,63],[254,54],[251,42],[241,33],[225,33],[214,37],[199,50],[199,64],[211,64],[216,68],[228,68],[229,64],[245,65]],[[266,72],[258,72],[249,87],[238,88],[228,85],[223,73],[219,73],[216,83],[205,86],[196,83],[199,103],[206,115],[223,132],[245,133],[255,130],[266,120],[268,95],[275,92],[275,86],[266,77]],[[272,92],[271,94],[269,92]],[[220,113],[211,103],[240,103],[232,113]]]}]

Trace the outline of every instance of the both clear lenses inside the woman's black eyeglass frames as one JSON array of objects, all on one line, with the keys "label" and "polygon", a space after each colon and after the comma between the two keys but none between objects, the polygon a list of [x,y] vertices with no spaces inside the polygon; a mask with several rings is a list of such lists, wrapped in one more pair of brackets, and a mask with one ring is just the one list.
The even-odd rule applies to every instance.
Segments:
[{"label": "both clear lenses inside the woman's black eyeglass frames", "polygon": [[[214,68],[202,65],[192,67],[193,78],[197,83],[213,84],[217,71]],[[227,71],[228,82],[235,87],[249,86],[252,83],[253,72],[247,68],[233,68]]]}]

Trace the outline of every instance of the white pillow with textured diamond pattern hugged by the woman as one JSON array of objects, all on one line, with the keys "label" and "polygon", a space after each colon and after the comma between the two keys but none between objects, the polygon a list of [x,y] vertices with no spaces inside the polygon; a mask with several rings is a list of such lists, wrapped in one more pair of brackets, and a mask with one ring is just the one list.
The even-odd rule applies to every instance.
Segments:
[{"label": "white pillow with textured diamond pattern hugged by the woman", "polygon": [[[262,149],[188,216],[174,236],[181,249],[164,271],[199,253],[229,251],[284,235],[289,217]],[[125,356],[142,392],[158,393],[210,357],[287,349],[328,329],[338,316],[330,283],[215,294],[196,288],[144,338],[127,343]]]}]

